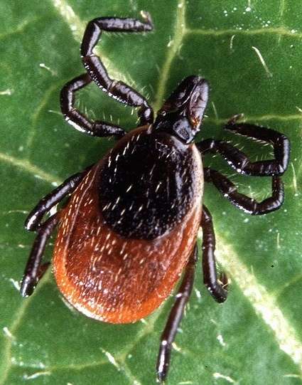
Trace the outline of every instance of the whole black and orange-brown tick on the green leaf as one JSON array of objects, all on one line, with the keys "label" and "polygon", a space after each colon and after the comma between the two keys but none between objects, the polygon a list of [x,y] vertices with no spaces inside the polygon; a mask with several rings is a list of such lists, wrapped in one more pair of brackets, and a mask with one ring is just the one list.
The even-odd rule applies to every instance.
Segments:
[{"label": "whole black and orange-brown tick on the green leaf", "polygon": [[[251,162],[244,152],[222,140],[194,143],[209,93],[207,80],[195,75],[180,82],[153,120],[147,100],[129,85],[110,78],[93,52],[102,31],[152,31],[149,14],[142,13],[142,18],[102,17],[87,25],[81,46],[86,72],[63,87],[61,110],[77,130],[118,141],[103,159],[70,176],[29,213],[25,226],[37,236],[21,294],[31,295],[48,267],[42,263],[43,252],[57,225],[53,271],[58,288],[71,305],[95,320],[141,320],[171,295],[183,275],[161,335],[156,371],[158,380],[163,381],[193,287],[200,227],[205,286],[217,302],[227,299],[227,278],[224,274],[218,277],[216,270],[215,233],[203,204],[204,183],[214,184],[222,196],[246,213],[260,215],[279,209],[284,201],[280,176],[288,167],[290,146],[288,138],[275,130],[239,123],[239,115],[232,117],[225,129],[271,144],[274,159]],[[126,133],[118,125],[90,120],[77,110],[75,93],[91,82],[119,102],[138,107],[138,127]],[[239,193],[226,176],[203,167],[207,152],[220,154],[239,174],[271,177],[271,196],[258,202]],[[44,220],[67,196],[65,207]]]}]

